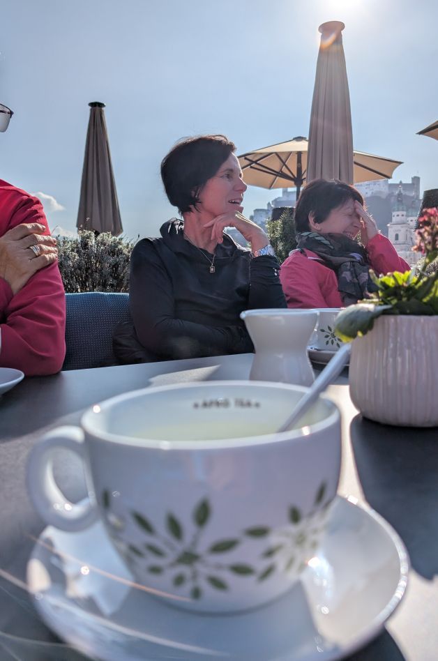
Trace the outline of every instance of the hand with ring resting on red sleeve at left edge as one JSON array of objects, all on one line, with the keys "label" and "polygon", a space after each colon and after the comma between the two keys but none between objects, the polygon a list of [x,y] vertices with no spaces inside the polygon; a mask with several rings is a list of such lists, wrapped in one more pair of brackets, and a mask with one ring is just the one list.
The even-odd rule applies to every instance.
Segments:
[{"label": "hand with ring resting on red sleeve at left edge", "polygon": [[0,278],[17,294],[29,278],[58,258],[56,238],[43,234],[45,225],[22,223],[0,237]]}]

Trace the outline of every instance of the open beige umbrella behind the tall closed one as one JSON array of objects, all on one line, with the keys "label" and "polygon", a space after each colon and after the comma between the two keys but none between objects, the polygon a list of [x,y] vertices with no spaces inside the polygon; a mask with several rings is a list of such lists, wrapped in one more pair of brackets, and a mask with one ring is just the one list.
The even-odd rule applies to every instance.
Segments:
[{"label": "open beige umbrella behind the tall closed one", "polygon": [[[302,136],[280,142],[269,147],[255,149],[239,157],[243,180],[261,188],[296,187],[299,197],[301,185],[306,180],[308,160],[308,139]],[[375,156],[363,151],[353,152],[353,181],[375,181],[391,179],[393,172],[402,161]]]}]

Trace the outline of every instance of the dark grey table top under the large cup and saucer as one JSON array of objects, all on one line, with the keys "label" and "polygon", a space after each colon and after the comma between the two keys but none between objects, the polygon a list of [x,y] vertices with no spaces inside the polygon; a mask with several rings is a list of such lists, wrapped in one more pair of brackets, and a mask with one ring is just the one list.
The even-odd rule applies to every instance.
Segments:
[{"label": "dark grey table top under the large cup and saucer", "polygon": [[[245,354],[61,372],[25,379],[0,397],[1,661],[84,658],[56,644],[25,590],[27,559],[45,527],[24,484],[33,443],[52,427],[79,423],[84,409],[112,395],[182,381],[247,379],[251,360],[252,354]],[[344,372],[327,391],[342,410],[340,494],[368,501],[391,523],[407,546],[412,567],[405,600],[385,632],[351,659],[432,661],[438,658],[438,430],[363,419],[349,399],[347,383]],[[76,499],[84,486],[72,461],[60,460],[57,471],[63,488]]]}]

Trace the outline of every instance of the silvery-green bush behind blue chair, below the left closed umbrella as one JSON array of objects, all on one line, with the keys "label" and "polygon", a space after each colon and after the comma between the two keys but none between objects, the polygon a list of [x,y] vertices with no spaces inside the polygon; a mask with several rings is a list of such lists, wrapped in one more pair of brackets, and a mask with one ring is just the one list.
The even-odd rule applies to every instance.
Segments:
[{"label": "silvery-green bush behind blue chair, below the left closed umbrella", "polygon": [[68,294],[79,291],[128,291],[129,262],[135,241],[79,231],[58,237],[58,263]]}]

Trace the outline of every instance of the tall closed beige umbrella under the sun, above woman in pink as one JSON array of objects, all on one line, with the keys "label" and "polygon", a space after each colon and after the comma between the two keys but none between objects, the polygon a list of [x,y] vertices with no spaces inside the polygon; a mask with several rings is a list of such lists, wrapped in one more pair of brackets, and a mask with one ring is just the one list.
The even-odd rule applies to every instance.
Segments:
[{"label": "tall closed beige umbrella under the sun, above woman in pink", "polygon": [[319,26],[319,46],[310,111],[307,180],[353,183],[352,114],[340,21]]}]

